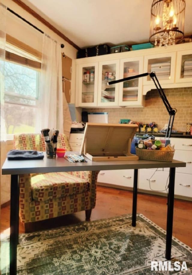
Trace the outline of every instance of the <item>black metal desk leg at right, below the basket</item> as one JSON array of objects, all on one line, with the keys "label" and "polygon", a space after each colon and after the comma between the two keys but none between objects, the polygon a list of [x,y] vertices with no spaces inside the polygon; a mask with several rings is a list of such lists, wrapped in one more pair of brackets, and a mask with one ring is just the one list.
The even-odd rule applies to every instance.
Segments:
[{"label": "black metal desk leg at right, below the basket", "polygon": [[171,242],[173,232],[173,207],[174,207],[175,167],[170,168],[169,192],[167,200],[167,235],[165,258],[171,259]]}]

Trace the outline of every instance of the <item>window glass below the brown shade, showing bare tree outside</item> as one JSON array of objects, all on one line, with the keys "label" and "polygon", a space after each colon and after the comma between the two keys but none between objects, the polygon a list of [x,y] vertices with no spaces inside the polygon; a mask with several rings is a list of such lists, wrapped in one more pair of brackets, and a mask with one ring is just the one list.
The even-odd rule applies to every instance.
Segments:
[{"label": "window glass below the brown shade, showing bare tree outside", "polygon": [[5,62],[5,123],[7,134],[34,133],[39,72]]}]

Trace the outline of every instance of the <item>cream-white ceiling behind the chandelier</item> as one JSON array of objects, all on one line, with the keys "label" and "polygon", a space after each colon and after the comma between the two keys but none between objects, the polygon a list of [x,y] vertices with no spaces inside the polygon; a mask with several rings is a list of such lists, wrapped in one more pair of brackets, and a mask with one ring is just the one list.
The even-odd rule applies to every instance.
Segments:
[{"label": "cream-white ceiling behind the chandelier", "polygon": [[[79,48],[149,42],[153,0],[25,0]],[[192,34],[192,0],[185,0],[184,35]]]}]

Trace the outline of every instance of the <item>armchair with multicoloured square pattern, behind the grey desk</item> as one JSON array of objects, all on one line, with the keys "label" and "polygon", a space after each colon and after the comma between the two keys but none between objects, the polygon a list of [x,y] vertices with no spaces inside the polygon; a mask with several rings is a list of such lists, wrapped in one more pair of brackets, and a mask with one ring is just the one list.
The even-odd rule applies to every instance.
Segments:
[{"label": "armchair with multicoloured square pattern, behind the grey desk", "polygon": [[[41,134],[14,135],[14,149],[45,151]],[[58,148],[71,151],[67,136],[60,134]],[[86,220],[96,202],[98,171],[54,172],[19,175],[19,217],[27,223],[85,210]]]}]

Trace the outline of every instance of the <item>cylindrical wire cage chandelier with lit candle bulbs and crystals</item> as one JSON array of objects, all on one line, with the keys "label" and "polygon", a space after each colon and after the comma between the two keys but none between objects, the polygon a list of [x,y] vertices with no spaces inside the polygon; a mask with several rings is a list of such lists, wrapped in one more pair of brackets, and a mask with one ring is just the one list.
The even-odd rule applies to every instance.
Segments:
[{"label": "cylindrical wire cage chandelier with lit candle bulbs and crystals", "polygon": [[153,0],[149,42],[175,45],[184,35],[185,0]]}]

